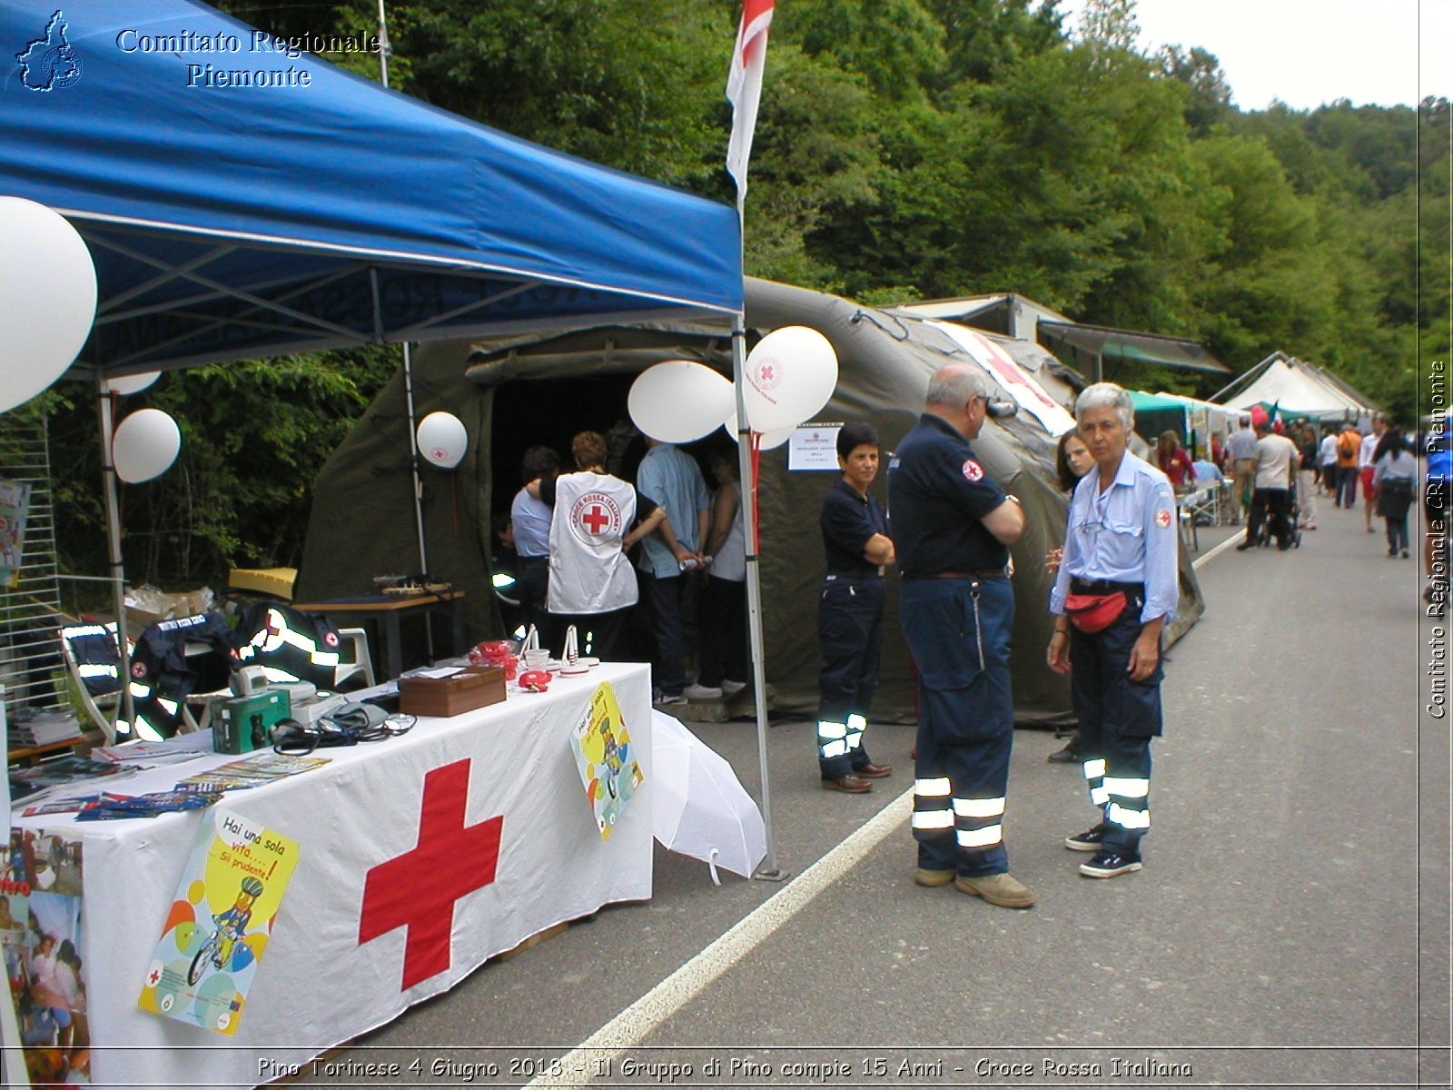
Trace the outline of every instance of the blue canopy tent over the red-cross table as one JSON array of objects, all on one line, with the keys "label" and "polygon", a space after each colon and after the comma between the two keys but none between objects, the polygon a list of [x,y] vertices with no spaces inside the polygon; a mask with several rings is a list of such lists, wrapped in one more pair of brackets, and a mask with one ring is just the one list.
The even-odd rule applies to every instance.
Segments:
[{"label": "blue canopy tent over the red-cross table", "polygon": [[[725,327],[741,310],[734,208],[434,109],[196,0],[4,0],[0,57],[0,195],[61,212],[96,262],[70,376],[99,384],[103,442],[106,378],[485,331]],[[110,513],[113,491],[108,472]]]}]

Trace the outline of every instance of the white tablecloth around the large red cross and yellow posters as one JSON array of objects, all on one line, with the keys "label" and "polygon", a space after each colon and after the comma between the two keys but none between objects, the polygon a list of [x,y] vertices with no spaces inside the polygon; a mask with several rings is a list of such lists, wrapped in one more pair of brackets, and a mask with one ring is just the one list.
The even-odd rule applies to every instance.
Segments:
[{"label": "white tablecloth around the large red cross and yellow posters", "polygon": [[[616,692],[645,772],[645,783],[606,841],[570,750],[571,728],[603,680]],[[301,844],[234,1038],[137,1007],[201,814],[71,824],[84,830],[92,1081],[251,1086],[446,991],[488,958],[555,923],[612,901],[649,898],[649,670],[606,664],[583,677],[556,677],[546,693],[511,693],[477,712],[420,719],[398,738],[320,750],[333,759],[327,767],[230,792],[219,805]],[[498,865],[491,884],[453,901],[448,968],[404,988],[407,929],[359,940],[365,881],[369,869],[416,847],[424,778],[446,767],[432,785],[458,785],[466,775],[464,827],[503,817]],[[174,780],[192,770],[177,764],[163,775]],[[36,817],[15,824],[70,823]],[[269,1062],[278,1065],[272,1074]]]}]

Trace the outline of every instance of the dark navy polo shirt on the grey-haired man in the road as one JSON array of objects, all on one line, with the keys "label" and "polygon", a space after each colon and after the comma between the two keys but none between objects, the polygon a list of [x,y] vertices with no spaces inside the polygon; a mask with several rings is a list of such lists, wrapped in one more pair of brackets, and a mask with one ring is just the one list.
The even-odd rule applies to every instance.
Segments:
[{"label": "dark navy polo shirt on the grey-haired man in the road", "polygon": [[1001,503],[1003,490],[974,456],[969,440],[942,417],[924,413],[888,464],[898,571],[911,578],[1003,568],[1008,546],[981,522]]}]

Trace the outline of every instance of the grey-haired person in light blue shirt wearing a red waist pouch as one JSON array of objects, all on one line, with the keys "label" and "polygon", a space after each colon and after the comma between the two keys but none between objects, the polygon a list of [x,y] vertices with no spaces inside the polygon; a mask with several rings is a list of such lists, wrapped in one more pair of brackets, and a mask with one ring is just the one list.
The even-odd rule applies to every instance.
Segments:
[{"label": "grey-haired person in light blue shirt wearing a red waist pouch", "polygon": [[1165,474],[1126,451],[1135,405],[1120,387],[1087,387],[1075,419],[1096,468],[1069,501],[1046,660],[1071,676],[1084,775],[1101,815],[1065,847],[1096,853],[1080,873],[1114,878],[1141,869],[1139,843],[1151,827],[1161,628],[1180,597],[1175,494]]}]

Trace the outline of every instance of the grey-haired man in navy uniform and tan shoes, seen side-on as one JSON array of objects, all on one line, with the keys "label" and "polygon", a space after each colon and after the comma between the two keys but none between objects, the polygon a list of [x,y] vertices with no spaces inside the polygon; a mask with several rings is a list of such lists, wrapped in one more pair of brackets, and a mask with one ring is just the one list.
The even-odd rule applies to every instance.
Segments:
[{"label": "grey-haired man in navy uniform and tan shoes, seen side-on", "polygon": [[1035,894],[1008,873],[1003,825],[1014,741],[1008,546],[1024,513],[969,446],[987,416],[984,378],[949,365],[889,464],[899,622],[918,666],[914,881],[1029,908]]}]

